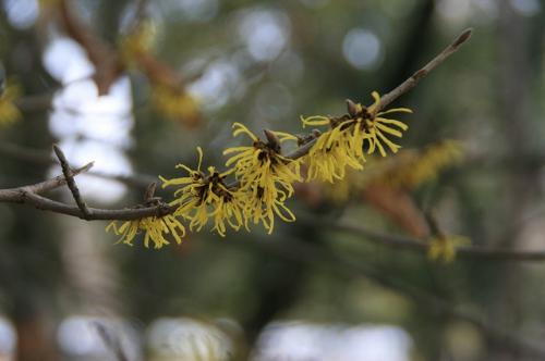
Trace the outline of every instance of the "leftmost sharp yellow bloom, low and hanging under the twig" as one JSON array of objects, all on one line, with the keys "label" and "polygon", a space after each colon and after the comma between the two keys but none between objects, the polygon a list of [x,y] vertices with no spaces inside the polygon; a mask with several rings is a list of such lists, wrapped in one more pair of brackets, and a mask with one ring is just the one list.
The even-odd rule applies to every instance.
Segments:
[{"label": "leftmost sharp yellow bloom, low and hanging under the twig", "polygon": [[138,233],[144,231],[144,247],[149,248],[149,240],[154,242],[154,248],[158,249],[169,244],[165,235],[171,235],[180,245],[185,236],[185,227],[171,214],[161,217],[148,216],[141,220],[126,221],[118,227],[117,221],[111,222],[106,232],[113,229],[113,233],[121,236],[118,242],[133,246],[133,239]]}]

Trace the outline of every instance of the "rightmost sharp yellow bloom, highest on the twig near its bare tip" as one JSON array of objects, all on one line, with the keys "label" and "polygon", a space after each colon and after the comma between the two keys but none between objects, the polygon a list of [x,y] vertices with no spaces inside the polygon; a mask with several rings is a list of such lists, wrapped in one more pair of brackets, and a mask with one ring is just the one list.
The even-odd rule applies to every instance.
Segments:
[{"label": "rightmost sharp yellow bloom, highest on the twig near its bare tip", "polygon": [[400,146],[391,141],[388,136],[401,137],[401,130],[408,126],[396,120],[383,115],[393,112],[412,112],[407,108],[396,108],[378,112],[380,96],[373,91],[375,102],[365,108],[348,101],[349,113],[340,117],[310,116],[301,117],[303,126],[329,125],[330,129],[318,136],[308,151],[306,180],[320,179],[334,183],[342,179],[347,166],[363,170],[365,163],[364,151],[372,154],[376,150],[386,155],[385,146],[393,153]]}]

